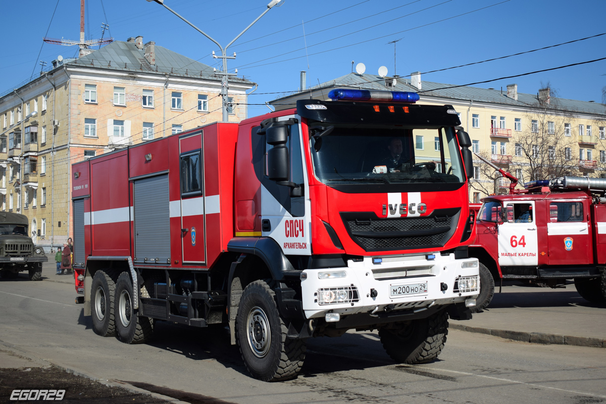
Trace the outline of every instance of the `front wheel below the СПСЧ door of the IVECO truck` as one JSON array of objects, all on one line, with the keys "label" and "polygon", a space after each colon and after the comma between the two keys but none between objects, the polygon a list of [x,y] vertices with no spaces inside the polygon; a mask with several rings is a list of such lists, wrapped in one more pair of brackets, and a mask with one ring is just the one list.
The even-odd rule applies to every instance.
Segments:
[{"label": "front wheel below the \u0421\u041f\u0421\u0427 door of the IVECO truck", "polygon": [[264,382],[295,378],[305,360],[305,341],[287,338],[275,293],[256,280],[244,289],[236,317],[236,341],[248,372]]}]

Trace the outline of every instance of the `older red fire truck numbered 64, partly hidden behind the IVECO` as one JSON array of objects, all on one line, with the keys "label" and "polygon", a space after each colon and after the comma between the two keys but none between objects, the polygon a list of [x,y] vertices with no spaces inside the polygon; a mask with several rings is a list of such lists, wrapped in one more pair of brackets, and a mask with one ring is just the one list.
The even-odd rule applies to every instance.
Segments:
[{"label": "older red fire truck numbered 64, partly hidden behind the IVECO", "polygon": [[[477,154],[476,154],[477,156]],[[592,303],[606,301],[606,179],[565,176],[528,182],[481,156],[511,180],[510,194],[482,199],[470,256],[480,262],[481,311],[503,279],[558,288],[574,280]],[[473,210],[474,207],[472,207]]]}]

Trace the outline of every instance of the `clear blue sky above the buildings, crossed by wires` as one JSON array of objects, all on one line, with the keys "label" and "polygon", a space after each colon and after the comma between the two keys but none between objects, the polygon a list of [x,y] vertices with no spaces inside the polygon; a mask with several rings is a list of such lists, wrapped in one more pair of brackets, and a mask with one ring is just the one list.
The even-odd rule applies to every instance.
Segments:
[{"label": "clear blue sky above the buildings, crossed by wires", "polygon": [[[165,4],[226,45],[263,12],[268,1],[165,0]],[[78,40],[79,3],[59,0],[51,22],[56,0],[2,0],[0,93],[15,88],[32,72],[38,75],[38,61],[50,65],[58,55],[71,58],[76,54],[77,47],[42,45],[42,37],[48,29],[50,38]],[[87,0],[86,8],[87,39],[101,38],[101,24],[107,22],[110,35],[120,41],[142,35],[144,42],[155,41],[213,67],[218,63],[210,56],[211,51],[219,51],[215,44],[154,2]],[[249,102],[263,104],[297,90],[301,70],[307,71],[307,85],[350,73],[351,61],[363,62],[367,73],[376,73],[384,65],[388,75],[393,75],[390,41],[400,40],[396,73],[405,76],[606,33],[605,15],[604,0],[285,0],[228,49],[237,53],[228,68],[238,68],[239,76],[259,84]],[[427,73],[422,80],[469,84],[605,57],[606,35]],[[537,93],[549,83],[562,98],[601,102],[606,60],[478,87],[505,89],[512,83],[522,93]],[[267,111],[264,105],[249,106],[249,116]]]}]

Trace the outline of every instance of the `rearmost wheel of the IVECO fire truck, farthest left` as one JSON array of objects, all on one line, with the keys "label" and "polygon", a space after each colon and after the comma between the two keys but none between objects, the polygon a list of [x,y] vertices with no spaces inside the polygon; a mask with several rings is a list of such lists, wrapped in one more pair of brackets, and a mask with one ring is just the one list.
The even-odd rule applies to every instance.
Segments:
[{"label": "rearmost wheel of the IVECO fire truck, farthest left", "polygon": [[93,317],[93,331],[102,337],[116,335],[114,322],[114,291],[116,283],[104,270],[96,271],[90,285],[90,311]]}]

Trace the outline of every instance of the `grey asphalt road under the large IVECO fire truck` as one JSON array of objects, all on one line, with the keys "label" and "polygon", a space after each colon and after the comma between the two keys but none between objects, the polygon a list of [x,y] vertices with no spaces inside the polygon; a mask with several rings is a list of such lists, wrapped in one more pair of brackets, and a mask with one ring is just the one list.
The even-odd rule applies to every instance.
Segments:
[{"label": "grey asphalt road under the large IVECO fire truck", "polygon": [[[599,403],[606,402],[606,349],[514,342],[451,330],[439,360],[393,363],[376,333],[308,342],[296,380],[251,379],[224,328],[158,322],[155,342],[96,336],[73,285],[0,281],[0,348],[88,376],[128,382],[190,402],[228,403]],[[490,313],[487,313],[490,314]],[[0,397],[0,402],[5,397]],[[205,401],[206,400],[206,401]],[[216,401],[213,401],[216,402]]]}]

